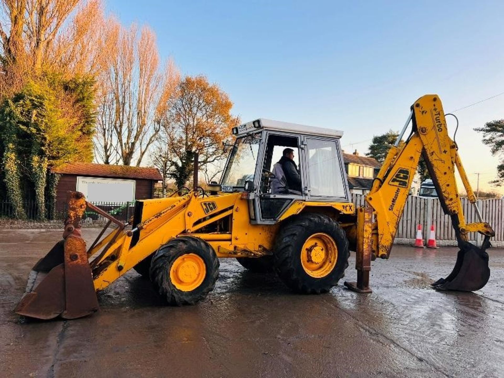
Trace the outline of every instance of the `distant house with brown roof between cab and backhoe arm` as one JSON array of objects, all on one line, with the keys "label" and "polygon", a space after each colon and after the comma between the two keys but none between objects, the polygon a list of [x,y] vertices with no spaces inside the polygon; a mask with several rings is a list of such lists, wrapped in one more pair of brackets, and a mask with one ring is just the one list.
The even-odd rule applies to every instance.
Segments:
[{"label": "distant house with brown roof between cab and backhoe arm", "polygon": [[348,188],[353,194],[367,194],[371,190],[373,178],[380,170],[380,163],[375,159],[360,156],[357,150],[353,154],[343,152],[343,161],[348,178]]}]

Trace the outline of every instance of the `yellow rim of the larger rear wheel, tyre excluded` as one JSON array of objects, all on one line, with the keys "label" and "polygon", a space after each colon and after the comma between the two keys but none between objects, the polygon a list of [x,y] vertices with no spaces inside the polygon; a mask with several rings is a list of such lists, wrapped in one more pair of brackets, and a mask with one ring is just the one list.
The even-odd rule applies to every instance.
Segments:
[{"label": "yellow rim of the larger rear wheel, tyre excluded", "polygon": [[326,277],[333,271],[337,261],[338,246],[328,234],[319,232],[311,235],[301,248],[301,264],[311,277]]}]

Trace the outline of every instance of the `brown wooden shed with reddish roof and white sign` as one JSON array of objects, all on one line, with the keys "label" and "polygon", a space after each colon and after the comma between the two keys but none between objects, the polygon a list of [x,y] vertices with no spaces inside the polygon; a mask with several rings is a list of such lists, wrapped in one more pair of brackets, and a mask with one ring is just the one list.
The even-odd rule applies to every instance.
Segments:
[{"label": "brown wooden shed with reddish roof and white sign", "polygon": [[161,180],[156,168],[94,163],[71,163],[50,168],[61,176],[56,202],[67,201],[68,191],[84,193],[92,203],[125,203],[153,198],[154,184]]}]

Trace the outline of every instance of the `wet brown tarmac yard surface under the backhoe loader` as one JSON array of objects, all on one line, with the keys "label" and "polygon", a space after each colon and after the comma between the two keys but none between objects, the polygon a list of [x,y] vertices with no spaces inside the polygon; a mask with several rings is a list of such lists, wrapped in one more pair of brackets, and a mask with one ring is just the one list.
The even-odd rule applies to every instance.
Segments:
[{"label": "wet brown tarmac yard surface under the backhoe loader", "polygon": [[[84,230],[92,240],[96,230]],[[31,267],[61,231],[0,230],[0,375],[6,377],[504,376],[504,250],[475,293],[430,282],[457,249],[394,246],[376,261],[370,294],[343,283],[319,296],[291,293],[273,274],[222,259],[215,290],[196,306],[168,307],[129,272],[73,321],[13,312]],[[346,280],[355,280],[354,254]]]}]

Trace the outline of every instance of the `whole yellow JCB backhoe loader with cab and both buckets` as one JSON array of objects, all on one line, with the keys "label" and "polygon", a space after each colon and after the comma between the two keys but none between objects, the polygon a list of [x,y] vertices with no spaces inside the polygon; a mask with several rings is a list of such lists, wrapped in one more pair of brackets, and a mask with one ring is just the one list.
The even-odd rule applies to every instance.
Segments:
[{"label": "whole yellow JCB backhoe loader with cab and both buckets", "polygon": [[[399,147],[410,122],[411,133]],[[460,247],[453,272],[433,288],[472,291],[487,283],[485,249],[494,232],[477,207],[480,222],[465,221],[456,168],[470,202],[475,204],[476,197],[437,95],[425,95],[411,106],[366,205],[357,209],[348,190],[342,132],[257,119],[234,128],[233,134],[236,141],[220,184],[213,183],[208,193],[195,187],[185,195],[137,201],[127,224],[71,192],[63,239],[35,265],[15,311],[39,319],[87,316],[98,309],[96,291],[131,269],[148,277],[168,303],[194,304],[213,289],[218,259],[226,257],[237,258],[247,269],[274,269],[295,291],[323,293],[344,276],[349,246],[356,250],[357,282],[345,286],[369,292],[371,260],[389,258],[420,155]],[[301,191],[286,187],[276,193],[271,183],[279,177],[273,165],[286,148],[299,164]],[[197,172],[195,166],[194,182]],[[108,219],[89,248],[80,228],[86,208]],[[115,229],[104,236],[112,223]],[[484,235],[481,247],[469,243],[469,232]]]}]

